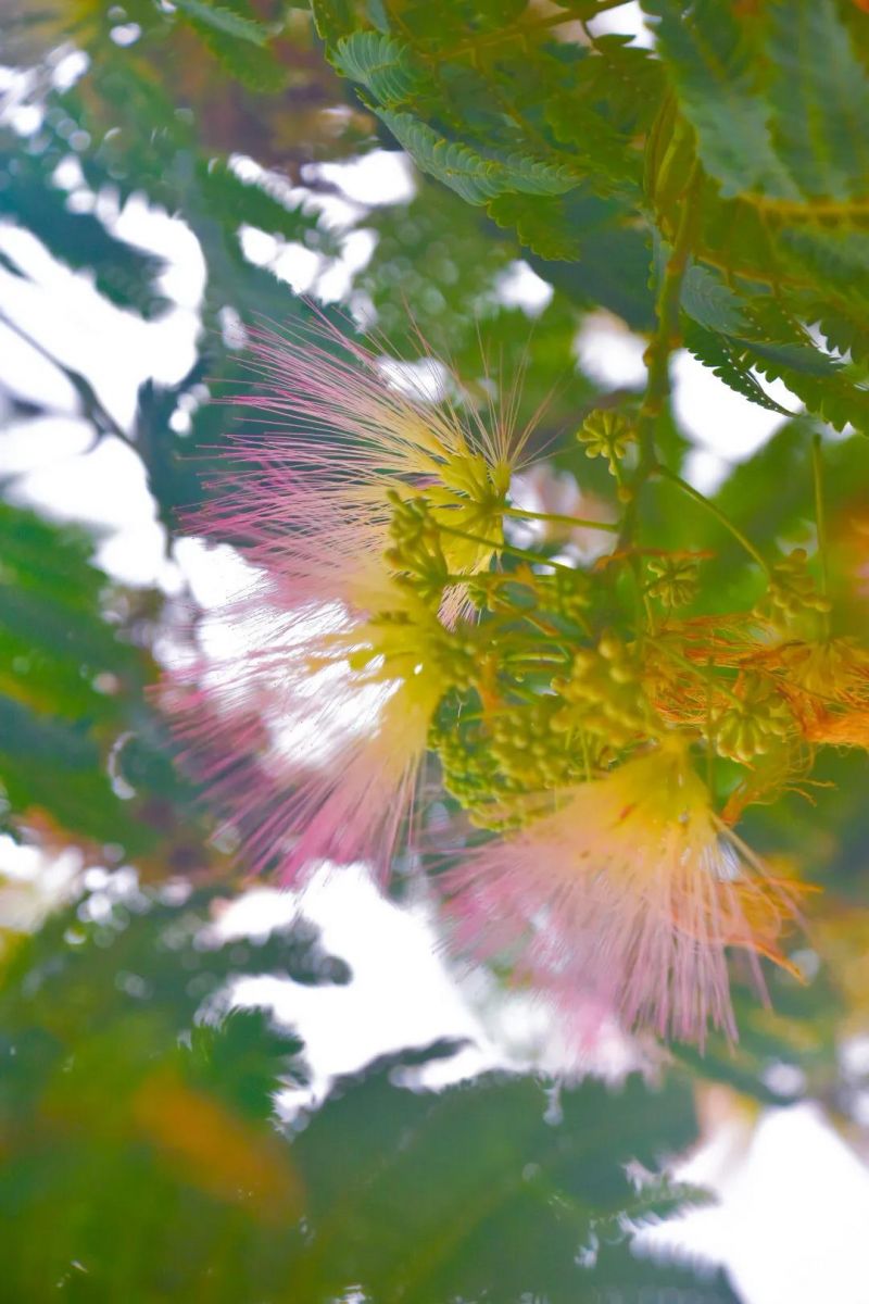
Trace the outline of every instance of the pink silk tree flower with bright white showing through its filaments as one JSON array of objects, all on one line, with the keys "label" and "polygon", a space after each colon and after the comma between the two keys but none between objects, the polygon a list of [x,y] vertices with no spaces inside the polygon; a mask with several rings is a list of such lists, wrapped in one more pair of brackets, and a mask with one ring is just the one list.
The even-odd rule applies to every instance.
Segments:
[{"label": "pink silk tree flower with bright white showing through its filaments", "polygon": [[300,617],[254,591],[224,613],[236,634],[249,621],[249,647],[162,689],[180,762],[245,866],[288,887],[327,861],[386,878],[413,816],[443,626],[413,591],[380,588],[370,618],[339,604]]}]

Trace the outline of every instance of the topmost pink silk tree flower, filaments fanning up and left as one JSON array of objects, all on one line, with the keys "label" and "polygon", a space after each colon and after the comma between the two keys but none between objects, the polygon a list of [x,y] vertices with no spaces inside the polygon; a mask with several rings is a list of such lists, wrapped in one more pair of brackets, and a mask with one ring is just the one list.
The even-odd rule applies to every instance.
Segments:
[{"label": "topmost pink silk tree flower, filaments fanning up and left", "polygon": [[[489,565],[534,425],[517,425],[517,387],[481,412],[443,364],[403,369],[317,312],[304,330],[253,331],[249,368],[249,393],[233,400],[248,420],[193,532],[241,540],[293,608],[360,606],[396,497],[425,496],[449,571]],[[447,593],[446,609],[460,601]]]}]

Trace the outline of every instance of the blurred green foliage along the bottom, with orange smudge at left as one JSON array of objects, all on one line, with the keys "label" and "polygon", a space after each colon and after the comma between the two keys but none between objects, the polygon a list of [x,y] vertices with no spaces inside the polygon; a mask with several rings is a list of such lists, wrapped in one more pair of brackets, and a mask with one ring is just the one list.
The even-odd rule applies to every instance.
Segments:
[{"label": "blurred green foliage along the bottom, with orange smudge at left", "polygon": [[216,904],[106,876],[10,965],[4,1299],[327,1304],[353,1286],[383,1304],[734,1299],[720,1274],[624,1247],[631,1227],[698,1198],[657,1175],[693,1136],[685,1081],[633,1077],[615,1095],[588,1081],[558,1098],[507,1074],[412,1086],[451,1054],[442,1045],[281,1120],[275,1090],[306,1081],[301,1043],[264,1011],[229,1009],[227,985],[348,973],[301,923],[221,943]]}]

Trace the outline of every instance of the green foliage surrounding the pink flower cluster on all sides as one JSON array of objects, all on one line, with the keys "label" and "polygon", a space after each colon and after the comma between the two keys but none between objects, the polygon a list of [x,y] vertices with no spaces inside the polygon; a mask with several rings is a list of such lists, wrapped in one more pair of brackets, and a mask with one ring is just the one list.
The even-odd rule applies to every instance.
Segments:
[{"label": "green foliage surrounding the pink flower cluster on all sides", "polygon": [[[599,33],[593,20],[611,9],[618,18],[595,0],[4,7],[0,232],[30,232],[119,310],[158,323],[165,265],[119,235],[119,214],[143,201],[202,252],[195,363],[175,385],[146,381],[129,428],[55,360],[94,442],[122,439],[141,458],[169,548],[245,420],[208,402],[238,383],[236,323],[304,319],[281,253],[315,267],[317,296],[361,232],[374,248],[336,292],[347,310],[373,317],[404,357],[448,353],[469,391],[524,373],[522,413],[548,399],[535,446],[563,471],[581,460],[589,494],[611,498],[606,469],[567,437],[625,395],[582,373],[576,336],[590,313],[654,330],[689,206],[674,343],[783,413],[715,502],[761,545],[810,541],[810,428],[823,429],[838,632],[865,632],[866,16],[852,0],[646,0],[646,51]],[[414,166],[397,201],[348,205],[323,168],[399,149]],[[251,231],[264,262],[249,256]],[[27,280],[17,248],[0,241],[0,296]],[[533,323],[506,301],[517,259],[543,282]],[[0,329],[51,356],[5,306]],[[774,379],[790,396],[773,398]],[[38,439],[57,415],[13,386],[3,398],[18,437]],[[790,419],[800,407],[812,420]],[[664,417],[659,433],[676,468],[684,432]],[[818,776],[830,786],[750,816],[758,849],[799,855],[823,893],[808,906],[806,983],[775,974],[773,1011],[744,1001],[739,1048],[680,1051],[658,1089],[564,1089],[559,1121],[533,1078],[435,1094],[406,1085],[427,1056],[399,1056],[288,1123],[274,1091],[305,1081],[298,1039],[263,1012],[228,1012],[219,992],[241,974],[347,971],[304,927],[262,947],[197,940],[215,901],[202,884],[237,884],[149,696],[177,612],[109,579],[94,539],[21,506],[12,480],[0,490],[3,829],[50,853],[78,846],[83,865],[132,861],[150,884],[107,889],[102,906],[83,896],[16,944],[20,926],[0,918],[0,1297],[732,1300],[720,1275],[629,1253],[631,1227],[691,1193],[663,1176],[633,1189],[624,1164],[657,1175],[694,1140],[692,1080],[856,1108],[840,1034],[869,1026],[865,752],[831,756]],[[704,592],[750,606],[760,576],[734,539],[666,482],[645,496],[645,541],[709,553]],[[787,1090],[782,1065],[797,1074]]]}]

